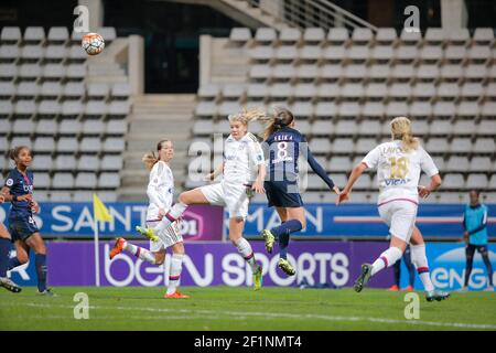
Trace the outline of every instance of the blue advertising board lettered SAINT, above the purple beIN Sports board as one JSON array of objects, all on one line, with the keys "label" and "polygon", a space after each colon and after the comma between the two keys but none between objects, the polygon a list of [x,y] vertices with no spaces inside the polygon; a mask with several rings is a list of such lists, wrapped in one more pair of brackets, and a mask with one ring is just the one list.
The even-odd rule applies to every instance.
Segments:
[{"label": "blue advertising board lettered SAINT, above the purple beIN Sports board", "polygon": [[[134,226],[144,224],[147,204],[144,203],[107,203],[115,221],[99,224],[103,238],[116,236],[137,236]],[[195,208],[197,207],[197,208]],[[211,210],[212,208],[212,210]],[[306,229],[299,232],[302,238],[386,238],[388,228],[382,223],[375,204],[306,204]],[[7,220],[9,204],[0,205],[0,222]],[[427,238],[460,238],[463,234],[462,216],[463,204],[421,204],[417,217],[417,225]],[[488,233],[496,235],[496,205],[488,205]],[[214,206],[192,206],[191,217],[187,215],[182,223],[183,235],[198,239],[220,239],[223,229],[212,233],[208,225],[218,224],[220,214],[213,213]],[[218,217],[220,217],[220,220]],[[225,229],[228,233],[227,213],[224,215]],[[202,221],[203,220],[203,221]],[[41,212],[35,215],[36,224],[42,234],[55,237],[88,238],[94,234],[91,203],[41,203]],[[202,222],[200,222],[202,221]],[[249,206],[246,220],[245,236],[258,237],[263,228],[279,225],[279,216],[274,208],[263,203],[254,203]],[[202,226],[203,224],[203,226]],[[202,229],[201,229],[202,228]]]}]

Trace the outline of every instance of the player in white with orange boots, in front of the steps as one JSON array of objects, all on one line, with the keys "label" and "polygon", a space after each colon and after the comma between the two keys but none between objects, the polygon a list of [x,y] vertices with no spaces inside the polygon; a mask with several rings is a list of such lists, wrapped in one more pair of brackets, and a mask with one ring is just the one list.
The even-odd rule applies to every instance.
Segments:
[{"label": "player in white with orange boots, in front of the steps", "polygon": [[[157,145],[157,151],[159,157],[155,157],[153,152],[143,156],[143,162],[150,170],[150,181],[147,189],[147,194],[150,199],[150,205],[147,211],[147,226],[151,228],[157,227],[168,210],[171,208],[174,196],[174,176],[169,167],[174,157],[172,141],[160,141]],[[143,228],[137,227],[137,229]],[[177,222],[173,222],[160,232],[155,232],[155,235],[150,239],[150,250],[136,246],[125,238],[118,238],[110,252],[110,259],[126,250],[150,264],[162,265],[165,260],[165,249],[168,247],[172,248],[172,258],[169,269],[169,286],[164,298],[190,298],[177,290],[184,258],[183,237],[181,236]]]}]

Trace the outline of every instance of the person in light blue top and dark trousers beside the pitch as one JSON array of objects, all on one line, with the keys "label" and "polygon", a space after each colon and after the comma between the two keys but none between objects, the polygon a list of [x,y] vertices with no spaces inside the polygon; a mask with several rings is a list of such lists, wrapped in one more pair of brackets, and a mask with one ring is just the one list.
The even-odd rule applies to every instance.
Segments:
[{"label": "person in light blue top and dark trousers beside the pitch", "polygon": [[487,250],[487,206],[481,204],[478,201],[478,191],[471,191],[471,203],[465,206],[463,214],[463,238],[466,243],[465,256],[465,281],[462,291],[468,290],[468,280],[472,274],[472,265],[474,263],[474,254],[477,250],[486,265],[487,277],[489,279],[487,284],[487,291],[494,291],[493,287],[493,266],[489,260],[489,253]]}]

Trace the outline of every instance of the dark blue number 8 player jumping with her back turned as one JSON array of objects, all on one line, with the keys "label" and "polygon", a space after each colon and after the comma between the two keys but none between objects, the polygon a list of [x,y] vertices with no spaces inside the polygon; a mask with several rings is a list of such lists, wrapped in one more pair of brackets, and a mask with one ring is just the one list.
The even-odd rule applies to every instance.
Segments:
[{"label": "dark blue number 8 player jumping with her back turned", "polygon": [[263,186],[269,207],[276,207],[282,224],[272,229],[263,229],[261,236],[268,253],[272,253],[273,243],[276,239],[279,240],[278,266],[287,275],[292,276],[295,269],[287,257],[290,235],[306,226],[298,176],[300,154],[306,159],[312,170],[322,178],[330,190],[338,194],[339,189],[313,158],[304,136],[294,129],[294,116],[289,109],[274,108],[274,116],[269,119],[263,140],[265,149],[269,154],[267,180]]}]

